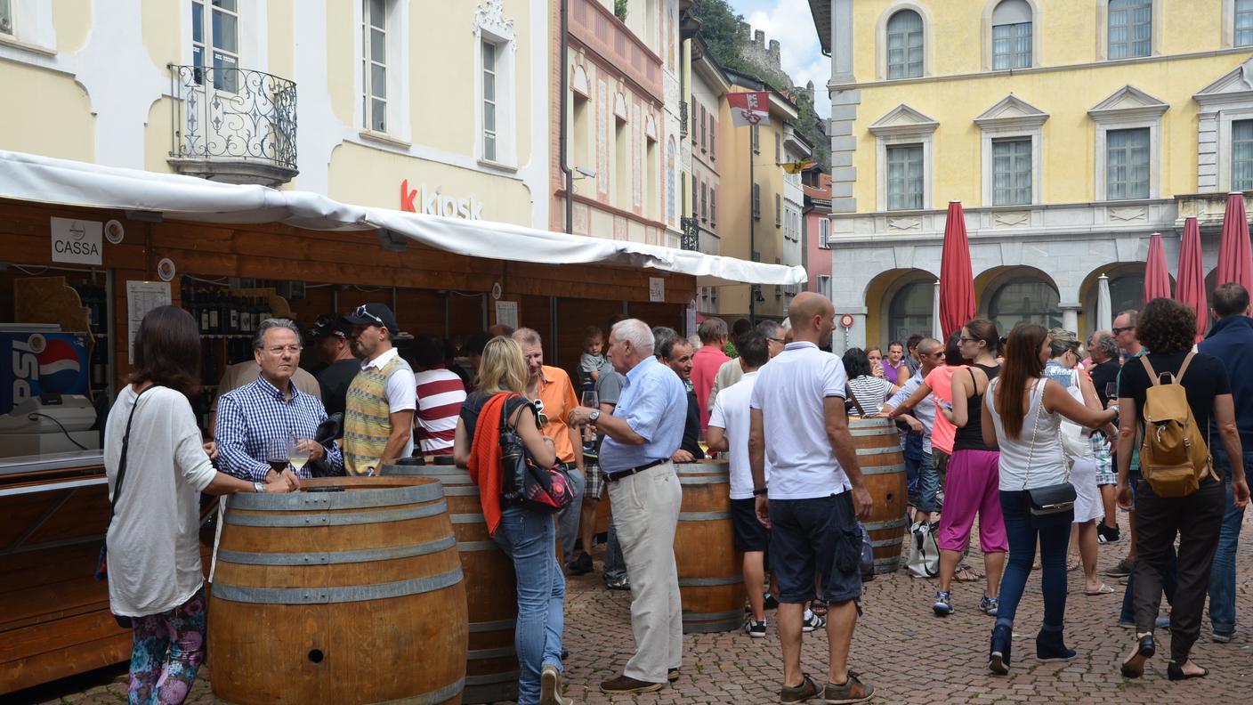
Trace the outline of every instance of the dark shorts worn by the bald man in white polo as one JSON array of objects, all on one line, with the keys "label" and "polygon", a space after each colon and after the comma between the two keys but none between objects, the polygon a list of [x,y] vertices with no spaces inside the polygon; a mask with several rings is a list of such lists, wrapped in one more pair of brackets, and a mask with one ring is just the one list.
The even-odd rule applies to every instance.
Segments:
[{"label": "dark shorts worn by the bald man in white polo", "polygon": [[813,499],[771,499],[771,568],[779,602],[806,602],[822,581],[827,602],[861,600],[861,528],[851,492]]}]

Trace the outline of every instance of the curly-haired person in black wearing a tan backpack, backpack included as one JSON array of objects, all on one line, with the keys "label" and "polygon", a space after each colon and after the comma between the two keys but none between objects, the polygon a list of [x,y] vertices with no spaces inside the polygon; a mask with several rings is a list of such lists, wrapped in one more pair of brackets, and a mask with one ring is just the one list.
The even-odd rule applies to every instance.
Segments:
[{"label": "curly-haired person in black wearing a tan backpack, backpack included", "polygon": [[[1167,675],[1170,680],[1184,680],[1209,672],[1194,664],[1189,654],[1200,633],[1227,499],[1225,487],[1213,470],[1210,443],[1220,442],[1230,458],[1235,506],[1243,508],[1249,499],[1227,368],[1218,358],[1192,351],[1195,331],[1197,314],[1192,309],[1172,299],[1149,301],[1136,324],[1136,335],[1152,352],[1129,361],[1119,384],[1121,507],[1131,504],[1128,474],[1138,439],[1143,475],[1134,488],[1135,642],[1123,661],[1125,677],[1143,675],[1144,662],[1155,655],[1153,628],[1172,561],[1178,582],[1170,612]],[[1212,418],[1218,438],[1209,434]],[[1177,536],[1178,558],[1174,557]]]}]

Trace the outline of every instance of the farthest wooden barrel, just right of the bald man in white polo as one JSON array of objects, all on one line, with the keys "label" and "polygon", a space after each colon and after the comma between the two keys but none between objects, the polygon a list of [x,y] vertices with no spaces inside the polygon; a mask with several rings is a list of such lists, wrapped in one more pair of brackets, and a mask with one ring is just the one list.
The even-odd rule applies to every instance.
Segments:
[{"label": "farthest wooden barrel, just right of the bald man in white polo", "polygon": [[875,551],[875,573],[892,573],[901,567],[901,547],[907,519],[908,479],[896,424],[887,419],[848,419],[857,462],[866,478],[875,507],[866,519]]}]

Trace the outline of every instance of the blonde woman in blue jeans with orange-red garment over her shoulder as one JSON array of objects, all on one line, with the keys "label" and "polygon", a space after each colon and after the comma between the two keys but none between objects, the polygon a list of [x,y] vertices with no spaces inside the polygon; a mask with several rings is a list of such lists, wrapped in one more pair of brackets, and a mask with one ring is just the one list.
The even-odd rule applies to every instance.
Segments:
[{"label": "blonde woman in blue jeans with orange-red garment over her shoulder", "polygon": [[[556,462],[553,440],[544,437],[534,409],[519,393],[526,389],[523,349],[510,337],[491,339],[479,365],[479,389],[461,406],[452,455],[457,465],[470,468],[479,485],[484,521],[492,539],[514,561],[517,577],[519,705],[568,705],[561,695],[561,630],[565,605],[565,576],[556,562],[556,529],[553,514],[521,504],[505,504],[500,497],[499,462],[501,414],[516,418],[517,434],[540,467]],[[482,415],[484,423],[479,424]],[[492,419],[489,421],[487,419]],[[485,434],[480,438],[480,434]]]}]

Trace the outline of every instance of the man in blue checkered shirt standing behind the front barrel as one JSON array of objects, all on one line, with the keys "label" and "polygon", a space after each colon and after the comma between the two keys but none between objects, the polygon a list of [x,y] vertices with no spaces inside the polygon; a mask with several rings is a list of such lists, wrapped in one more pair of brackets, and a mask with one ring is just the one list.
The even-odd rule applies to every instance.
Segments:
[{"label": "man in blue checkered shirt standing behind the front barrel", "polygon": [[[342,474],[343,455],[335,442],[322,445],[313,440],[318,424],[326,420],[326,408],[292,384],[301,361],[299,329],[288,319],[262,321],[252,347],[261,375],[218,400],[214,438],[222,469],[253,482],[271,482],[277,474],[269,467],[267,445],[296,438],[309,462],[321,460]],[[283,475],[296,484],[291,465]],[[309,477],[308,465],[301,468],[299,477]]]}]

